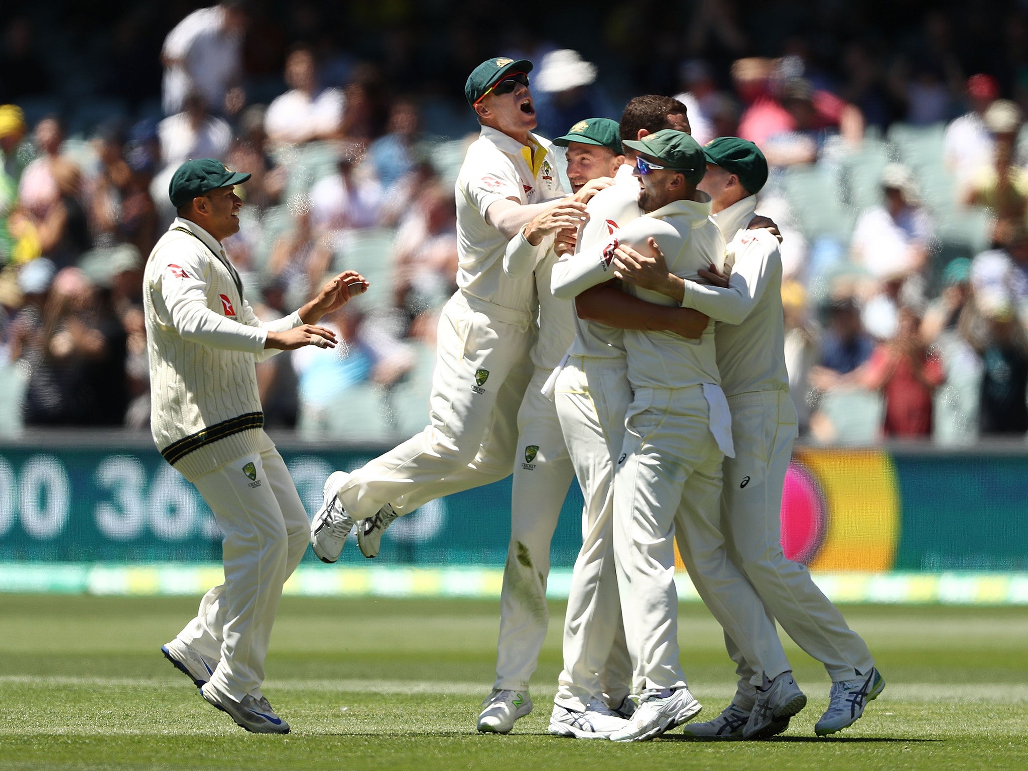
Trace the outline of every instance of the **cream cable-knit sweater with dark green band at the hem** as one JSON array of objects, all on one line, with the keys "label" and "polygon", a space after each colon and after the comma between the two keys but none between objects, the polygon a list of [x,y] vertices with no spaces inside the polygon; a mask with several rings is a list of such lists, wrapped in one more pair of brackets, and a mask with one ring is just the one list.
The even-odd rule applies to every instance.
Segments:
[{"label": "cream cable-knit sweater with dark green band at the hem", "polygon": [[143,278],[150,362],[150,430],[172,466],[193,481],[265,445],[254,364],[268,331],[302,324],[298,313],[264,324],[221,244],[177,217]]}]

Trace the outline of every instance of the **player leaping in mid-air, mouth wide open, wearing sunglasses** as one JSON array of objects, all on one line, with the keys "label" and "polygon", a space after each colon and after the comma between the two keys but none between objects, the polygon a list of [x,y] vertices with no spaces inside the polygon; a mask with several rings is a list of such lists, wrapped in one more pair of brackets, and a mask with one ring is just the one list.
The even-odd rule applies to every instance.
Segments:
[{"label": "player leaping in mid-air, mouth wide open, wearing sunglasses", "polygon": [[482,131],[456,181],[458,289],[439,321],[431,423],[363,468],[329,476],[310,534],[322,561],[338,558],[359,520],[358,545],[373,557],[397,516],[513,469],[518,408],[534,370],[537,297],[530,273],[504,273],[504,253],[537,214],[557,207],[581,217],[585,209],[562,197],[550,142],[530,131],[530,70],[525,60],[489,59],[465,84]]}]

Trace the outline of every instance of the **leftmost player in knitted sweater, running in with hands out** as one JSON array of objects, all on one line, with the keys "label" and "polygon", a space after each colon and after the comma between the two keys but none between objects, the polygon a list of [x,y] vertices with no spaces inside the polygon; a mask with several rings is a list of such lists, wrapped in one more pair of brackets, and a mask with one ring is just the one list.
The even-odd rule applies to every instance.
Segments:
[{"label": "leftmost player in knitted sweater, running in with hands out", "polygon": [[150,426],[160,454],[192,482],[223,534],[225,582],[161,652],[204,698],[255,733],[288,733],[261,693],[282,585],[306,551],[307,515],[263,431],[254,363],[277,351],[333,347],[315,326],[367,283],[347,270],[284,319],[262,323],[221,248],[240,229],[233,186],[249,174],[213,158],[172,176],[178,217],[154,246],[143,284]]}]

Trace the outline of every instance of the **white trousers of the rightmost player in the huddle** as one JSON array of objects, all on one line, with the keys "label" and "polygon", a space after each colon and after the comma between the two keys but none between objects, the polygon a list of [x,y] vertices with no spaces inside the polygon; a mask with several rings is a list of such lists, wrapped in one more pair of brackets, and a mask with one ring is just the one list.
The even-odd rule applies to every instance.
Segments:
[{"label": "white trousers of the rightmost player in the huddle", "polygon": [[[787,391],[738,394],[728,399],[735,457],[726,457],[722,521],[731,559],[742,570],[767,612],[800,648],[824,664],[834,682],[867,674],[875,660],[859,634],[811,580],[806,566],[781,550],[781,495],[797,434]],[[739,691],[752,697],[754,668],[731,635]]]}]

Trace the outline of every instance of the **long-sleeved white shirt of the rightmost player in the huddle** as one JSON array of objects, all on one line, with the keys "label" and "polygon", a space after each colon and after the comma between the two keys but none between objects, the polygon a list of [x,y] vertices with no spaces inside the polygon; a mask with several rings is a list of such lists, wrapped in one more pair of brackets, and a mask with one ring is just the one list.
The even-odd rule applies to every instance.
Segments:
[{"label": "long-sleeved white shirt of the rightmost player in the huddle", "polygon": [[687,281],[682,306],[696,308],[718,324],[714,343],[727,396],[754,391],[788,391],[781,307],[781,255],[769,230],[746,230],[757,207],[748,195],[711,216],[728,246],[732,267],[727,289]]}]

